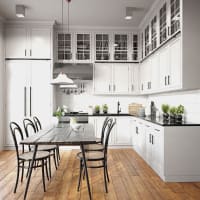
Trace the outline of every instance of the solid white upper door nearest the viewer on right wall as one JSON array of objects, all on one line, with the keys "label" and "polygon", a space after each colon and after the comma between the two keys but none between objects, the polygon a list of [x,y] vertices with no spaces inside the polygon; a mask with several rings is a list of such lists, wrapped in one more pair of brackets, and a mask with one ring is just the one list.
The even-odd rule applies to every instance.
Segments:
[{"label": "solid white upper door nearest the viewer on right wall", "polygon": [[171,87],[181,86],[181,39],[172,41],[170,48],[170,74],[168,75]]}]

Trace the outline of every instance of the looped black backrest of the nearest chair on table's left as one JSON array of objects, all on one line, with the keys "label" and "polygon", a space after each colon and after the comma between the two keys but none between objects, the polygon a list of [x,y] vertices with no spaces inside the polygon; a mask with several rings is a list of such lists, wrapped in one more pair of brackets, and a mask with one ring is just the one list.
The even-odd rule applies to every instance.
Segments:
[{"label": "looped black backrest of the nearest chair on table's left", "polygon": [[[19,158],[19,147],[18,147],[19,141],[18,140],[24,139],[23,132],[20,126],[16,122],[10,122],[10,130],[11,130],[13,141],[15,144],[17,158]],[[24,153],[24,145],[22,145],[22,153]]]}]

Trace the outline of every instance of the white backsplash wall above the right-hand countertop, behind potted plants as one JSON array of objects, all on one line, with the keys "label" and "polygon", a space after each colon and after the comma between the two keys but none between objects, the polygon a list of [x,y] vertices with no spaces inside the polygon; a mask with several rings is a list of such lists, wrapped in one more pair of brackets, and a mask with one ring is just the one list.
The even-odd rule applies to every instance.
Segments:
[{"label": "white backsplash wall above the right-hand countertop, behind potted plants", "polygon": [[200,123],[200,90],[151,95],[148,97],[147,105],[150,101],[154,101],[160,111],[162,104],[182,104],[185,107],[185,120]]}]

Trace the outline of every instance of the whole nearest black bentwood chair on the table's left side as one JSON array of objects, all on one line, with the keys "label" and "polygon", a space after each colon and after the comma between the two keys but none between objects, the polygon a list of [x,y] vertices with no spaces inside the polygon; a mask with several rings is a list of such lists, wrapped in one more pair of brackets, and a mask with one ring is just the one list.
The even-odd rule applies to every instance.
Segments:
[{"label": "whole nearest black bentwood chair on the table's left side", "polygon": [[[30,168],[30,162],[32,161],[33,158],[33,152],[28,151],[25,152],[25,146],[22,146],[22,151],[20,151],[19,149],[19,140],[23,140],[24,136],[23,136],[23,132],[22,129],[20,128],[20,126],[15,123],[15,122],[11,122],[10,123],[10,130],[12,133],[12,137],[13,137],[13,141],[15,144],[15,150],[16,150],[16,154],[17,154],[17,178],[16,178],[16,183],[15,183],[15,188],[14,188],[14,193],[16,193],[17,190],[17,185],[18,185],[18,181],[19,181],[19,174],[20,174],[20,168],[22,169],[22,173],[21,173],[21,182],[23,181],[23,176],[24,176],[24,169],[27,168],[27,172]],[[46,191],[45,188],[45,168],[46,168],[46,175],[47,175],[47,179],[49,180],[49,176],[48,176],[48,170],[47,170],[47,160],[50,159],[50,154],[47,151],[37,151],[36,154],[36,158],[35,158],[35,162],[33,165],[33,168],[42,168],[42,181],[43,181],[43,188],[44,188],[44,192]],[[28,166],[25,165],[25,163],[28,162]],[[37,164],[36,164],[37,162]]]}]

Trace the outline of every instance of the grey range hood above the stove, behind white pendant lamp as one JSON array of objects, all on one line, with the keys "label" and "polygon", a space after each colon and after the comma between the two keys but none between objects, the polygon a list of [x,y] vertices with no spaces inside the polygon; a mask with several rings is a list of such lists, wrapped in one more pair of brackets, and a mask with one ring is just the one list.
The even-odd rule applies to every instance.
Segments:
[{"label": "grey range hood above the stove, behind white pendant lamp", "polygon": [[73,80],[92,80],[93,64],[55,63],[53,77],[55,78],[60,72],[67,74],[67,76]]}]

